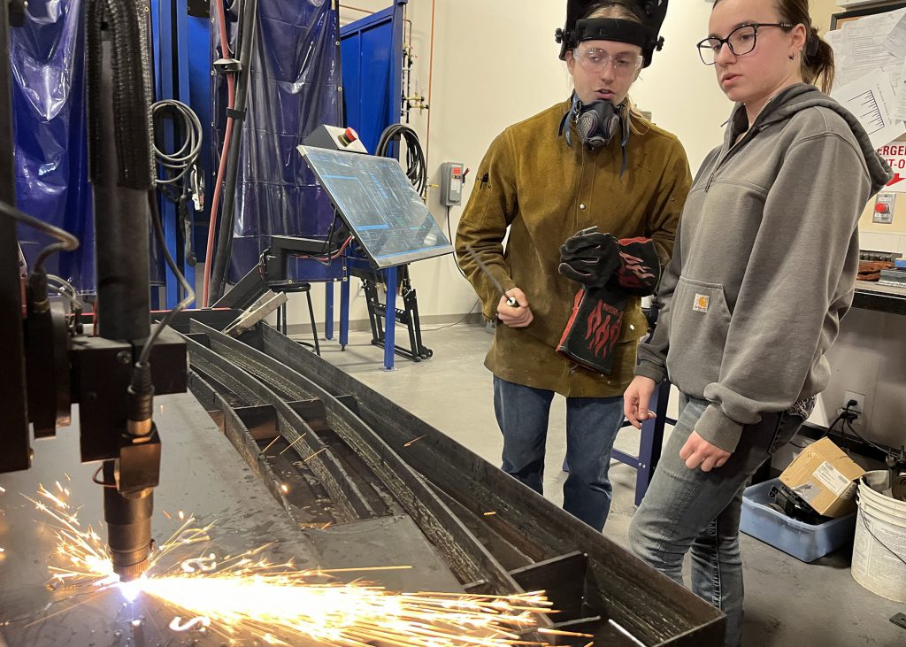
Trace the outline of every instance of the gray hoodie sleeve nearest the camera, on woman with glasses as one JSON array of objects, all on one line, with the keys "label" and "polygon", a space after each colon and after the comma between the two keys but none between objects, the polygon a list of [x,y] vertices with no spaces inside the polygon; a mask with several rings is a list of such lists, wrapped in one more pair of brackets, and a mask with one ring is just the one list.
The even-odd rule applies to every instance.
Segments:
[{"label": "gray hoodie sleeve nearest the camera, on woman with glasses", "polygon": [[710,404],[696,426],[703,439],[734,451],[744,425],[799,396],[822,338],[834,338],[852,303],[855,231],[870,193],[862,152],[836,133],[812,135],[786,152],[750,256],[726,259],[747,271],[718,381],[705,387]]}]

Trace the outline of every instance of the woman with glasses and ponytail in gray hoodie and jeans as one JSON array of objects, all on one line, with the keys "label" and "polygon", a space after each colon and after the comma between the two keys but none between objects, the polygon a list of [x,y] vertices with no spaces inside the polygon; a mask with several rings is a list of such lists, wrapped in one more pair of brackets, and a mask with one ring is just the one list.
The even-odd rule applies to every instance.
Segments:
[{"label": "woman with glasses and ponytail in gray hoodie and jeans", "polygon": [[826,91],[834,54],[808,0],[718,0],[699,43],[736,108],[683,211],[665,304],[626,416],[648,415],[656,382],[682,393],[630,546],[727,613],[742,636],[739,515],[747,480],[808,417],[825,353],[853,301],[858,222],[889,181],[863,127]]}]

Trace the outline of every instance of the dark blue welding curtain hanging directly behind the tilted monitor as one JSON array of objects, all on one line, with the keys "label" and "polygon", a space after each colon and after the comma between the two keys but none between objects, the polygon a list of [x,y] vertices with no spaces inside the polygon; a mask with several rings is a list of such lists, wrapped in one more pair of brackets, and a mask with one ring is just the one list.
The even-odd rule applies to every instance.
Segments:
[{"label": "dark blue welding curtain hanging directly behind the tilted monitor", "polygon": [[[212,1],[212,16],[217,15],[213,3],[221,1]],[[296,147],[319,125],[342,121],[340,26],[332,5],[331,0],[258,0],[236,179],[230,283],[255,266],[270,236],[326,237],[330,230],[330,200]],[[233,43],[236,15],[228,15],[227,22]],[[211,43],[217,53],[216,27],[211,29]],[[215,80],[212,96],[217,124],[214,159],[219,159],[226,127],[222,77]],[[212,167],[216,172],[217,164]]]}]

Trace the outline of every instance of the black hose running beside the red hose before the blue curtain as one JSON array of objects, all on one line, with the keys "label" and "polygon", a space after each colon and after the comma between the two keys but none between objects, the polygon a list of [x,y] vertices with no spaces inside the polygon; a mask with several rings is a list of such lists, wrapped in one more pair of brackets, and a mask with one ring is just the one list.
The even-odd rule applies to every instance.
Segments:
[{"label": "black hose running beside the red hose before the blue curtain", "polygon": [[[220,0],[217,0],[220,2]],[[223,296],[229,260],[233,247],[233,224],[236,222],[236,176],[239,172],[239,153],[242,149],[242,126],[246,116],[248,84],[252,67],[252,46],[255,43],[255,22],[258,14],[258,0],[246,0],[240,9],[239,32],[239,78],[236,82],[236,104],[234,106],[233,137],[226,158],[226,179],[223,208],[220,211],[220,231],[217,232],[217,252],[211,269],[209,303]]]}]

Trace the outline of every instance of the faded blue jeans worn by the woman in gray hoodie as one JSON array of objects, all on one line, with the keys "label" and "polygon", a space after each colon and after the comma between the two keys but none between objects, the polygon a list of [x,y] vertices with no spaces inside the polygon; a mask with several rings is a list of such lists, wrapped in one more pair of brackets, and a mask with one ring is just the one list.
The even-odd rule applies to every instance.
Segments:
[{"label": "faded blue jeans worn by the woman in gray hoodie", "polygon": [[727,614],[726,647],[742,642],[743,581],[739,555],[742,491],[757,468],[795,436],[803,423],[787,413],[765,414],[743,428],[727,463],[710,472],[689,469],[679,450],[708,401],[680,397],[679,420],[670,434],[651,486],[632,517],[631,550],[683,584],[682,561],[692,559],[692,591]]}]

